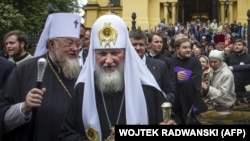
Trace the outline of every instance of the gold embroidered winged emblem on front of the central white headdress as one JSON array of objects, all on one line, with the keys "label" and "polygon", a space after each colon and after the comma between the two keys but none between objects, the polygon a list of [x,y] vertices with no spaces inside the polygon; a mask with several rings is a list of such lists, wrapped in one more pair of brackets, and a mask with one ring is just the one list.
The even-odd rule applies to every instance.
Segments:
[{"label": "gold embroidered winged emblem on front of the central white headdress", "polygon": [[110,47],[110,42],[113,42],[115,45],[118,36],[117,31],[112,28],[110,24],[111,23],[105,23],[104,27],[98,32],[100,45],[102,46],[102,42],[104,42],[104,48],[107,46]]}]

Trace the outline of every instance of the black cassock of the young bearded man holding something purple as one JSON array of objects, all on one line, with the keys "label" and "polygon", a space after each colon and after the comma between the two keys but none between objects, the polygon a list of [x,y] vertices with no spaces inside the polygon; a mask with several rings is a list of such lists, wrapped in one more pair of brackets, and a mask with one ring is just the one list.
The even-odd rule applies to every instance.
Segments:
[{"label": "black cassock of the young bearded man holding something purple", "polygon": [[[202,113],[207,110],[206,105],[201,98],[202,67],[198,59],[191,57],[181,59],[177,55],[172,57],[174,67],[181,67],[191,71],[189,79],[178,82],[176,80],[176,98],[173,104],[173,117],[177,124],[186,124],[188,113],[191,107],[195,107],[196,113]],[[176,77],[177,78],[177,77]]]}]

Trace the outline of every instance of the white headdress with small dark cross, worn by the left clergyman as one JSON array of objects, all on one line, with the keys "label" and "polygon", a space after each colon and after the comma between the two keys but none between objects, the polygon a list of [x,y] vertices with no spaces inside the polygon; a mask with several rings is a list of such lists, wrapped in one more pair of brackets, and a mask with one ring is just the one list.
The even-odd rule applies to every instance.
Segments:
[{"label": "white headdress with small dark cross, worn by the left clergyman", "polygon": [[56,37],[80,36],[81,16],[73,13],[53,13],[46,20],[45,27],[39,38],[34,56],[47,52],[47,40]]}]

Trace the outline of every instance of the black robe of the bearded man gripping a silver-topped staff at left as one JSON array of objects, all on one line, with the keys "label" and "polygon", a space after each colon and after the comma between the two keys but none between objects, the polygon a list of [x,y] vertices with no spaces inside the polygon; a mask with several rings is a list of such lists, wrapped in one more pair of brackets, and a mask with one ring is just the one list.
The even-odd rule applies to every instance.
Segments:
[{"label": "black robe of the bearded man gripping a silver-topped staff at left", "polygon": [[[42,56],[46,58],[45,56]],[[40,58],[40,57],[39,57]],[[27,93],[36,87],[37,61],[39,58],[29,59],[19,65],[10,74],[4,93],[0,97],[0,120],[3,124],[5,112],[11,105],[25,101]],[[57,67],[49,59],[55,71]],[[73,94],[75,80],[69,80],[58,73],[69,92]],[[49,64],[45,69],[42,106],[32,114],[30,122],[25,123],[11,132],[4,134],[4,141],[56,141],[61,122],[69,106],[70,96],[58,81]],[[0,126],[3,128],[3,126]]]}]

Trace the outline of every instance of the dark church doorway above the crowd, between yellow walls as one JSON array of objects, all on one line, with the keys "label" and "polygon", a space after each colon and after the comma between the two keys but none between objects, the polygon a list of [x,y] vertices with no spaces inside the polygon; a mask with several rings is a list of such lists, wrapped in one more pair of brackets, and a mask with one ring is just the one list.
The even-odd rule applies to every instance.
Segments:
[{"label": "dark church doorway above the crowd, between yellow walls", "polygon": [[186,21],[200,19],[207,21],[219,18],[218,0],[179,0],[178,21],[185,24]]}]

